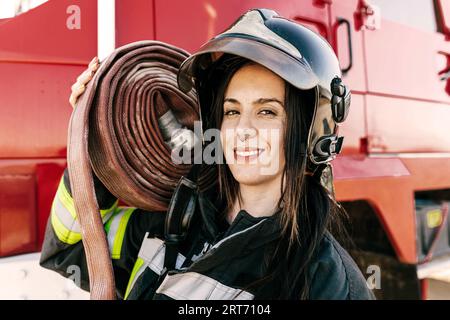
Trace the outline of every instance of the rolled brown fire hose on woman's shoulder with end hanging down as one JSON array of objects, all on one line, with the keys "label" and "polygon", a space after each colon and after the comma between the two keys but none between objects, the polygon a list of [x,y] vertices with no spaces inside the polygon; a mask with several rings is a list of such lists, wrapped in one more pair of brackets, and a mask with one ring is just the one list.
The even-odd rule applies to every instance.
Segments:
[{"label": "rolled brown fire hose on woman's shoulder with end hanging down", "polygon": [[195,93],[177,87],[177,71],[187,56],[157,41],[116,49],[100,64],[70,119],[68,166],[91,299],[116,297],[93,174],[127,205],[164,211],[179,178],[191,167],[171,160],[158,126],[167,111],[190,130],[199,119]]}]

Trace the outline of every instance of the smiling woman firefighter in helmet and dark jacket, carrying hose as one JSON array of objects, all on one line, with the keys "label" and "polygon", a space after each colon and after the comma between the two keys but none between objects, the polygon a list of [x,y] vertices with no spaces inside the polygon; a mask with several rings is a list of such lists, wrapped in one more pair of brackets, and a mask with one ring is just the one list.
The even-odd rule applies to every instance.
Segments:
[{"label": "smiling woman firefighter in helmet and dark jacket, carrying hose", "polygon": [[[97,68],[94,59],[77,79],[73,106]],[[164,213],[118,207],[95,178],[118,296],[373,299],[329,232],[339,208],[324,172],[340,151],[337,124],[350,104],[340,76],[323,38],[267,9],[248,11],[184,61],[179,87],[197,90],[203,130],[221,130],[225,161],[215,164],[217,189],[198,195],[171,270],[165,267]],[[67,169],[41,265],[66,277],[76,265],[80,286],[89,289]]]}]

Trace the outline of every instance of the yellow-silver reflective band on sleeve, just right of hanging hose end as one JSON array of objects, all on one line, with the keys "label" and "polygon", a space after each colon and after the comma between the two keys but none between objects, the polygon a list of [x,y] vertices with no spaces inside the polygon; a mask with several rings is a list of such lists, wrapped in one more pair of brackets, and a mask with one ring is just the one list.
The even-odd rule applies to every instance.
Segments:
[{"label": "yellow-silver reflective band on sleeve, just right of hanging hose end", "polygon": [[120,259],[128,220],[136,208],[119,208],[106,224],[109,251],[112,259]]}]

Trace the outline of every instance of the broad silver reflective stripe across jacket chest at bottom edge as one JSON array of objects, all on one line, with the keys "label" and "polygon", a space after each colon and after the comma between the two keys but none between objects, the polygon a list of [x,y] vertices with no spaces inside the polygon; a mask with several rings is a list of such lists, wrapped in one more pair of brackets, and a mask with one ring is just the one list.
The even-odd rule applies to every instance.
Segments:
[{"label": "broad silver reflective stripe across jacket chest at bottom edge", "polygon": [[228,287],[197,272],[167,275],[156,293],[176,300],[253,300],[254,295]]}]

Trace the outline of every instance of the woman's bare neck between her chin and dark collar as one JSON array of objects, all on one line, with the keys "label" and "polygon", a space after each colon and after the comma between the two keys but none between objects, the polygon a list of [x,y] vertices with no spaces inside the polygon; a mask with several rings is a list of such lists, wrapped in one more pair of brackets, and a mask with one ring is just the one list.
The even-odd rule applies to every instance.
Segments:
[{"label": "woman's bare neck between her chin and dark collar", "polygon": [[239,200],[236,199],[227,215],[228,222],[233,222],[240,210],[245,210],[254,217],[273,215],[281,197],[280,185],[281,178],[260,185],[239,184],[242,203],[239,204]]}]

